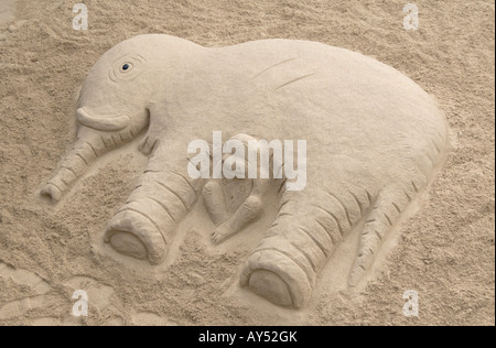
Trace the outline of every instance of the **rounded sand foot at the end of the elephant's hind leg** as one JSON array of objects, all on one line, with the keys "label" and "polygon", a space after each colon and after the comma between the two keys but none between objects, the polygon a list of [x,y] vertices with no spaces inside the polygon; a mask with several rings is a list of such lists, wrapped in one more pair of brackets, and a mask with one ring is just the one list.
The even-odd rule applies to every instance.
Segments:
[{"label": "rounded sand foot at the end of the elephant's hind leg", "polygon": [[294,308],[305,306],[312,294],[309,276],[302,268],[277,250],[251,254],[240,283],[273,304]]}]

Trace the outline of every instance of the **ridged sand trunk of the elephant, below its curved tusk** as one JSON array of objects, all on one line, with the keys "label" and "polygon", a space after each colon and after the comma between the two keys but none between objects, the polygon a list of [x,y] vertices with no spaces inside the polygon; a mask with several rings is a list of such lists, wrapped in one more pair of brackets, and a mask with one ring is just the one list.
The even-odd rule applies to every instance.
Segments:
[{"label": "ridged sand trunk of the elephant, below its curved tusk", "polygon": [[130,141],[132,132],[106,133],[80,127],[73,150],[62,162],[58,171],[42,189],[42,195],[54,202],[61,200],[71,185],[78,180],[88,166],[100,155],[119,144]]}]

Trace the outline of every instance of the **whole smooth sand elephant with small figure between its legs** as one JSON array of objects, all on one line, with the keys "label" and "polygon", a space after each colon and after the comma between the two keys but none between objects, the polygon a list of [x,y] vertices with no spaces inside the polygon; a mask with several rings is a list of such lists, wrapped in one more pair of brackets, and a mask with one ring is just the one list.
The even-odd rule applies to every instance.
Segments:
[{"label": "whole smooth sand elephant with small figure between its legs", "polygon": [[150,154],[148,168],[110,220],[106,241],[152,264],[163,260],[200,195],[217,225],[215,242],[263,208],[265,184],[247,181],[226,213],[220,192],[239,183],[219,188],[191,180],[190,141],[211,139],[214,130],[306,140],[306,186],[288,191],[266,182],[281,185],[279,214],[240,279],[269,301],[296,308],[360,222],[349,283],[369,270],[384,238],[432,178],[448,138],[433,99],[396,69],[346,50],[285,40],[218,48],[168,35],[125,41],[88,73],[76,118],[74,149],[43,194],[60,200],[98,156],[147,132],[140,150]]}]

